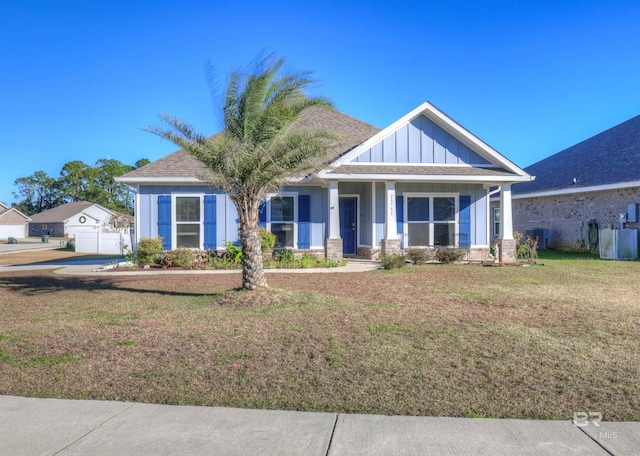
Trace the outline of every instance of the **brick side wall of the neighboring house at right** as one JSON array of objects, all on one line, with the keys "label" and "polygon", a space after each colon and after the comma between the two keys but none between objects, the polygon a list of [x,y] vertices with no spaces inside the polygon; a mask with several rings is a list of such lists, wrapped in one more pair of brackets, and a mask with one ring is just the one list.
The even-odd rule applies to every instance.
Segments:
[{"label": "brick side wall of the neighboring house at right", "polygon": [[[619,228],[618,214],[626,213],[629,203],[640,203],[640,187],[514,199],[513,229],[524,232],[533,228],[547,228],[549,247],[581,242],[588,244],[589,220],[595,219],[600,229],[608,224]],[[499,205],[499,202],[491,203],[492,222],[493,208]],[[640,231],[640,223],[628,223],[627,228]]]}]

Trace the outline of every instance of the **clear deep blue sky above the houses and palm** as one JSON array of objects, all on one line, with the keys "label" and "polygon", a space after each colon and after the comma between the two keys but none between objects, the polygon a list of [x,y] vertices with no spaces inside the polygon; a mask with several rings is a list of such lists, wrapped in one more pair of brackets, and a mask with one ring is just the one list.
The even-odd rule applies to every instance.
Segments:
[{"label": "clear deep blue sky above the houses and palm", "polygon": [[261,50],[385,127],[428,100],[525,167],[640,114],[640,2],[0,0],[0,201],[72,160],[176,149],[158,113],[219,130],[224,82]]}]

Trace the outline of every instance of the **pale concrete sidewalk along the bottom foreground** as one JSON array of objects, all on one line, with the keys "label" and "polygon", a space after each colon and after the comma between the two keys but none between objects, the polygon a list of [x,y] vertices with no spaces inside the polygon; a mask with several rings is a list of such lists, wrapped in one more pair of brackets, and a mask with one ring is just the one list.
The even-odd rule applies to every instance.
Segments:
[{"label": "pale concrete sidewalk along the bottom foreground", "polygon": [[0,396],[0,454],[637,455],[640,423],[345,415]]}]

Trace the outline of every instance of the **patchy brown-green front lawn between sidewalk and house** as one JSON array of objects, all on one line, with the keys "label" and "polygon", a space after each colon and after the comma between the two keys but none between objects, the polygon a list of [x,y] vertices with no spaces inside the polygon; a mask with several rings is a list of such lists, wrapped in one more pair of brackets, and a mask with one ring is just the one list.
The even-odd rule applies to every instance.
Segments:
[{"label": "patchy brown-green front lawn between sidewalk and house", "polygon": [[640,263],[362,274],[0,274],[0,394],[640,420]]}]

